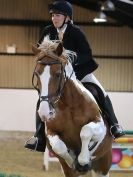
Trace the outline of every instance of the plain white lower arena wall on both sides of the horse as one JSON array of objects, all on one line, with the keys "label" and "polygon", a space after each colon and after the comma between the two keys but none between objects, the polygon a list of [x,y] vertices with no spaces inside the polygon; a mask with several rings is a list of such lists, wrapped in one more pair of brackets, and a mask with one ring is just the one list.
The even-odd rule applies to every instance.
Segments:
[{"label": "plain white lower arena wall on both sides of the horse", "polygon": [[[133,130],[133,92],[108,94],[123,128]],[[0,130],[34,131],[37,99],[33,89],[0,89]]]}]

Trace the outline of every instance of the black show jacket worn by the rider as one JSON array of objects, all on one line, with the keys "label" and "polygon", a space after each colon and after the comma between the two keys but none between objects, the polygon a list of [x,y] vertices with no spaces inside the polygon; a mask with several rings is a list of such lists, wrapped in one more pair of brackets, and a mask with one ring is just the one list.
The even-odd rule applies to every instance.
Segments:
[{"label": "black show jacket worn by the rider", "polygon": [[[39,43],[41,43],[47,35],[49,35],[50,40],[58,39],[57,29],[53,25],[44,28]],[[68,23],[63,36],[63,47],[77,54],[77,59],[73,63],[77,79],[81,80],[87,74],[97,69],[98,64],[92,57],[89,43],[78,26]]]}]

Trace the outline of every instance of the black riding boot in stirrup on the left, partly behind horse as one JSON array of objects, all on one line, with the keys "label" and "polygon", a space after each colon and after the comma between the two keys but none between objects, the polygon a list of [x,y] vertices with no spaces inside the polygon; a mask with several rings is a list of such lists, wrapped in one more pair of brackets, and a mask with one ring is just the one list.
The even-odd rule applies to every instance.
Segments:
[{"label": "black riding boot in stirrup on the left, partly behind horse", "polygon": [[44,152],[46,147],[45,124],[41,121],[37,112],[39,104],[40,101],[38,101],[36,109],[36,133],[25,143],[25,148]]}]

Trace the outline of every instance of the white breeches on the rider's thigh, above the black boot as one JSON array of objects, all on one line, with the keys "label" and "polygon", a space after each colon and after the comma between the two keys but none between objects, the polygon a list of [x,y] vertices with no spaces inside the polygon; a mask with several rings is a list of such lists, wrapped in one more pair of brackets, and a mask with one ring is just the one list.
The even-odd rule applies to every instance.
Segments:
[{"label": "white breeches on the rider's thigh, above the black boot", "polygon": [[97,80],[97,78],[94,76],[94,74],[87,74],[82,80],[81,82],[91,82],[94,83],[96,85],[98,85],[101,90],[103,91],[104,96],[107,96],[106,91],[104,90],[103,86],[100,84],[100,82]]}]

